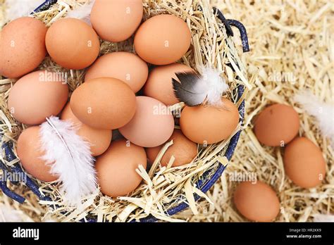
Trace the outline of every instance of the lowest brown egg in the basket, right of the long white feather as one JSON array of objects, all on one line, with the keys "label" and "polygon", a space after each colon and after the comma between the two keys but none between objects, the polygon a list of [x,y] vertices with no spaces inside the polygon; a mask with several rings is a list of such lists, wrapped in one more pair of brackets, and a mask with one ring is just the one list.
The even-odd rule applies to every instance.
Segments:
[{"label": "lowest brown egg in the basket, right of the long white feather", "polygon": [[109,149],[97,157],[95,168],[101,192],[107,196],[125,196],[134,191],[142,177],[137,174],[139,165],[146,168],[144,148],[125,139],[111,142]]}]

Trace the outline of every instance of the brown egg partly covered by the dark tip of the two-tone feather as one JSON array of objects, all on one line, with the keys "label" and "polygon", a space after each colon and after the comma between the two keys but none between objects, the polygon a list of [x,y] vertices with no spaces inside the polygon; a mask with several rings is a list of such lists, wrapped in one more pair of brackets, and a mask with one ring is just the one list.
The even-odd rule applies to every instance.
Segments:
[{"label": "brown egg partly covered by the dark tip of the two-tone feather", "polygon": [[172,79],[178,80],[175,73],[184,72],[194,72],[194,70],[180,63],[154,68],[149,73],[149,78],[144,86],[144,95],[157,99],[167,106],[178,103],[179,101],[174,94]]}]

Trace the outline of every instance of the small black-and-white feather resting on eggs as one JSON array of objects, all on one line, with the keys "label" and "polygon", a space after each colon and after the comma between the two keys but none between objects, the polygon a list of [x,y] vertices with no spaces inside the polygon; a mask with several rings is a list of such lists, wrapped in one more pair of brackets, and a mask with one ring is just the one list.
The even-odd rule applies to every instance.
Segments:
[{"label": "small black-and-white feather resting on eggs", "polygon": [[175,73],[173,89],[176,98],[187,106],[198,106],[207,103],[212,106],[222,106],[221,97],[228,89],[221,74],[212,68],[203,68],[199,73]]}]

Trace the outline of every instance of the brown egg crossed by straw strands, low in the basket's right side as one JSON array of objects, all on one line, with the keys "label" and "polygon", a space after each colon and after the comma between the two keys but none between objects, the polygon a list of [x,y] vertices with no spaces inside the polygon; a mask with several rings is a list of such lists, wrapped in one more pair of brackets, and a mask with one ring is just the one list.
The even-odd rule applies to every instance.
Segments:
[{"label": "brown egg crossed by straw strands, low in the basket's right side", "polygon": [[[197,156],[197,144],[187,139],[181,130],[174,130],[172,136],[168,139],[168,142],[172,139],[173,144],[169,146],[167,151],[163,154],[161,165],[168,165],[172,156],[175,158],[172,166],[185,165],[190,163]],[[163,145],[145,149],[147,158],[149,158],[149,163],[154,163],[154,160],[156,159],[156,156],[158,156],[162,147]]]}]

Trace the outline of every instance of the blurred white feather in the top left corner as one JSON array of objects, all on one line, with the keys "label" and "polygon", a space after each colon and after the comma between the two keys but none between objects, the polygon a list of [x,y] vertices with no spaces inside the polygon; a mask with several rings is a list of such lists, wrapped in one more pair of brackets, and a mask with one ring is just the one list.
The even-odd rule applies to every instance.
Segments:
[{"label": "blurred white feather in the top left corner", "polygon": [[6,0],[6,21],[30,15],[45,0]]}]

